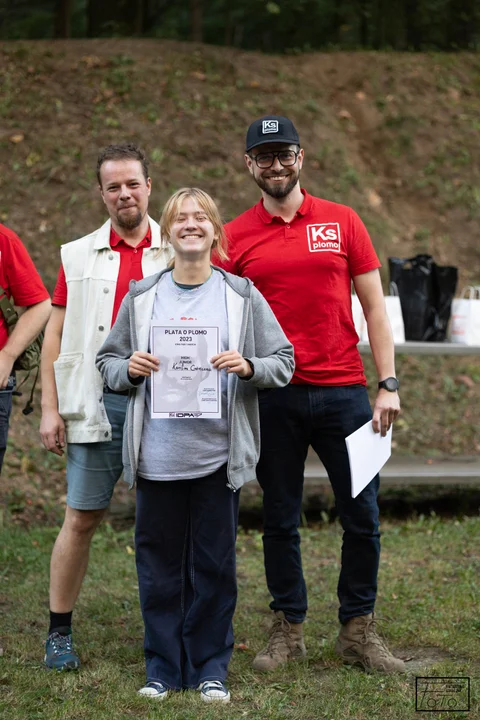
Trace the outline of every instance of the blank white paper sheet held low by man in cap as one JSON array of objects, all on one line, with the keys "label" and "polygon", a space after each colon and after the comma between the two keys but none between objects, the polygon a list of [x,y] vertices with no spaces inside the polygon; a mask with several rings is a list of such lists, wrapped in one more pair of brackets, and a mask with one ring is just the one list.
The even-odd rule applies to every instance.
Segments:
[{"label": "blank white paper sheet held low by man in cap", "polygon": [[357,497],[392,454],[392,427],[382,437],[381,433],[373,432],[372,421],[369,420],[345,438],[345,442],[352,476],[352,497]]}]

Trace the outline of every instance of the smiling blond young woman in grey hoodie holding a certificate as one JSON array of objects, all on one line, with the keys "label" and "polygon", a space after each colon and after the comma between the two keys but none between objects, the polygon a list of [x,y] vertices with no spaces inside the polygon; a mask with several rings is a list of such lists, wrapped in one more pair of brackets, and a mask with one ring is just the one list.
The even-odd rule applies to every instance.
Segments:
[{"label": "smiling blond young woman in grey hoodie holding a certificate", "polygon": [[209,195],[179,190],[160,226],[174,265],[131,287],[97,357],[107,384],[131,391],[124,464],[137,483],[147,669],[139,692],[161,700],[192,688],[228,702],[237,491],[255,478],[257,389],[289,382],[293,348],[253,284],[212,266],[213,249],[227,253]]}]

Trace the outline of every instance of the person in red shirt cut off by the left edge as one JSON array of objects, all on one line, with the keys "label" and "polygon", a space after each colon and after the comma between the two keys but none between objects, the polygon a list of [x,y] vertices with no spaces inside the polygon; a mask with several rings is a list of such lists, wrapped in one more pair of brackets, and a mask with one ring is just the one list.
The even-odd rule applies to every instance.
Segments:
[{"label": "person in red shirt cut off by the left edge", "polygon": [[0,225],[0,298],[25,308],[12,332],[0,311],[0,472],[7,447],[15,389],[16,359],[43,330],[51,311],[50,295],[22,241]]}]

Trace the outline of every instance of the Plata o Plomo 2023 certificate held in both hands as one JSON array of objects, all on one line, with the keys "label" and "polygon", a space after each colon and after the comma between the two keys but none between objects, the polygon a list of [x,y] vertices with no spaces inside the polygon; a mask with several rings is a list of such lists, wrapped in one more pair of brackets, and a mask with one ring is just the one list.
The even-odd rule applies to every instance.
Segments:
[{"label": "Plata o Plomo 2023 certificate held in both hands", "polygon": [[220,329],[152,325],[150,347],[160,360],[151,375],[152,418],[220,418],[220,373],[210,358],[220,352]]}]

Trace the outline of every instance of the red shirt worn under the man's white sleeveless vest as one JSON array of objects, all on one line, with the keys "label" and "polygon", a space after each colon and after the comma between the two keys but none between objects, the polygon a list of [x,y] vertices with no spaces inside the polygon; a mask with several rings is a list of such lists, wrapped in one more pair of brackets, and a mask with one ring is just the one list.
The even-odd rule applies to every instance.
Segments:
[{"label": "red shirt worn under the man's white sleeveless vest", "polygon": [[[143,279],[143,248],[150,247],[151,243],[152,231],[150,226],[144,239],[136,247],[128,245],[113,228],[110,230],[110,247],[112,250],[120,253],[120,269],[118,271],[117,287],[115,289],[115,298],[113,301],[112,325],[117,319],[122,300],[128,292],[130,280]],[[53,293],[52,304],[60,305],[61,307],[67,306],[67,281],[65,279],[63,265],[60,265],[60,270],[58,271],[57,284]]]}]

